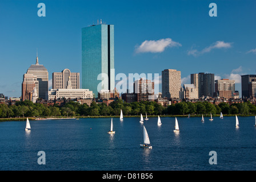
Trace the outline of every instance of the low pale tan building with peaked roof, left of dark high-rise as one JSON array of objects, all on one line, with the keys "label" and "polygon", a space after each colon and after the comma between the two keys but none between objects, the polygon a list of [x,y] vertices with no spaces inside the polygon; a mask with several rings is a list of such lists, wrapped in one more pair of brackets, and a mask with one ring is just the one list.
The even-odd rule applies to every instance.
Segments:
[{"label": "low pale tan building with peaked roof, left of dark high-rise", "polygon": [[198,99],[198,90],[195,88],[194,84],[184,84],[181,87],[181,97],[182,99]]}]

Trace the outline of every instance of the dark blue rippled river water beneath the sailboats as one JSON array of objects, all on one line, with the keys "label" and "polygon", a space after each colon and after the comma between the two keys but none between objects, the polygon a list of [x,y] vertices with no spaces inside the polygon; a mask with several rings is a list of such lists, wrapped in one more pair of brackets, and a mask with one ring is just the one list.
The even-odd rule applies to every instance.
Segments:
[{"label": "dark blue rippled river water beneath the sailboats", "polygon": [[[0,170],[255,170],[256,128],[254,117],[214,121],[173,117],[149,118],[144,125],[152,149],[141,148],[143,124],[139,118],[62,119],[0,122]],[[45,151],[46,164],[39,165],[38,151]],[[217,164],[210,165],[210,151]]]}]

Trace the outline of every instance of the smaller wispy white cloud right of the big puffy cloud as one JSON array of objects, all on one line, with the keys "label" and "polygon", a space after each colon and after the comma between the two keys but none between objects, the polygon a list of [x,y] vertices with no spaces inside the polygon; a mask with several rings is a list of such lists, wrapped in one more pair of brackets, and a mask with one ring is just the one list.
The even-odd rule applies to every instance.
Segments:
[{"label": "smaller wispy white cloud right of the big puffy cloud", "polygon": [[217,41],[217,42],[211,44],[211,46],[202,49],[202,51],[198,51],[197,49],[190,49],[190,51],[187,51],[187,55],[198,56],[198,55],[202,55],[203,53],[210,52],[213,49],[230,48],[231,44],[232,43],[225,43],[223,41]]}]

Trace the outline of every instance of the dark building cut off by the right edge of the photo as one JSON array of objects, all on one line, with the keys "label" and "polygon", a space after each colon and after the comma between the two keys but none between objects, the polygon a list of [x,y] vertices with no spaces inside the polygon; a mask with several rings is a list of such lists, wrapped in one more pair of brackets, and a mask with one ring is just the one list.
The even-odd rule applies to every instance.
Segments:
[{"label": "dark building cut off by the right edge of the photo", "polygon": [[256,75],[242,75],[242,98],[256,97]]}]

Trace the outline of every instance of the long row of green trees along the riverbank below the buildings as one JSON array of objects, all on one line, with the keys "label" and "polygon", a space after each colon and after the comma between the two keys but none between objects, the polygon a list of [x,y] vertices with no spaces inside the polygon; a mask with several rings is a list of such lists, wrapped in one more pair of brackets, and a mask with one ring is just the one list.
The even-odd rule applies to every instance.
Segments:
[{"label": "long row of green trees along the riverbank below the buildings", "polygon": [[97,104],[92,102],[90,107],[87,104],[78,102],[67,102],[63,106],[33,103],[31,101],[18,101],[15,105],[0,104],[0,118],[10,117],[74,117],[74,116],[110,116],[120,115],[186,115],[186,114],[256,114],[256,106],[251,102],[238,104],[227,104],[222,102],[219,105],[210,102],[179,102],[163,107],[157,102],[142,101],[126,103],[122,100],[111,102],[109,106],[105,103]]}]

